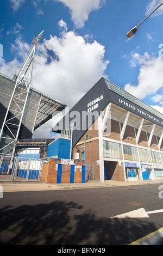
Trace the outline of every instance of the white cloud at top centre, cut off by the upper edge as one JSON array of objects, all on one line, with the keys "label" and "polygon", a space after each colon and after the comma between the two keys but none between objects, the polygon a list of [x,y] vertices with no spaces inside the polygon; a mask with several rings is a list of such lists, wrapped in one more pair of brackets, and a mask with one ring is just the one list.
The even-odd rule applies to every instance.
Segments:
[{"label": "white cloud at top centre, cut off by the upper edge", "polygon": [[63,3],[71,11],[71,19],[77,28],[83,27],[91,11],[98,10],[105,0],[54,0]]}]

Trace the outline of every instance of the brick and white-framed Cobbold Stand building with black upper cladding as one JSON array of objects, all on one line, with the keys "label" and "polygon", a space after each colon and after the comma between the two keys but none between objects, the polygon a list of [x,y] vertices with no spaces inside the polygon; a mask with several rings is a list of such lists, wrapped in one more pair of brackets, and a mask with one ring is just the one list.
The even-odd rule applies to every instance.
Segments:
[{"label": "brick and white-framed Cobbold Stand building with black upper cladding", "polygon": [[93,165],[93,180],[163,179],[163,114],[105,78],[53,131],[69,139],[74,161]]}]

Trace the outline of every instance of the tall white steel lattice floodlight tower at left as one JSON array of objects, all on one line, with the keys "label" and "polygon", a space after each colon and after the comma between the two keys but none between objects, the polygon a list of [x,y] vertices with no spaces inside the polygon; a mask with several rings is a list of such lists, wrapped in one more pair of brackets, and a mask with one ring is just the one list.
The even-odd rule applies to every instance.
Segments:
[{"label": "tall white steel lattice floodlight tower at left", "polygon": [[[32,82],[35,47],[39,43],[42,34],[43,34],[43,31],[36,38],[33,39],[28,56],[21,70],[18,72],[18,75],[16,76],[15,87],[12,92],[8,109],[3,121],[2,129],[0,132],[0,142],[2,141],[2,139],[5,139],[6,141],[9,141],[9,142],[5,143],[5,145],[3,145],[2,148],[0,147],[0,152],[4,148],[8,147],[9,145],[17,141],[21,124],[22,124],[24,109],[26,108],[28,94],[29,94],[29,90]],[[10,113],[12,113],[12,117]],[[16,119],[16,122],[15,122],[15,119]],[[14,132],[13,132],[13,127],[14,127]],[[4,133],[4,129],[5,131],[8,131],[10,138],[8,136],[5,136],[6,133]],[[12,156],[14,156],[14,151],[15,151],[15,147],[12,150]]]}]

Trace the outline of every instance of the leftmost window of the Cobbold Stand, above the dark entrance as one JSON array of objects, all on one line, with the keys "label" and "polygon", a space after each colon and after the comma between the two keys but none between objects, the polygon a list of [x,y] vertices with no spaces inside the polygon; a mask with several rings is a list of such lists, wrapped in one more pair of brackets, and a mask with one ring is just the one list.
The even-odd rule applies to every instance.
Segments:
[{"label": "leftmost window of the Cobbold Stand, above the dark entrance", "polygon": [[103,141],[104,157],[111,159],[122,159],[121,144]]}]

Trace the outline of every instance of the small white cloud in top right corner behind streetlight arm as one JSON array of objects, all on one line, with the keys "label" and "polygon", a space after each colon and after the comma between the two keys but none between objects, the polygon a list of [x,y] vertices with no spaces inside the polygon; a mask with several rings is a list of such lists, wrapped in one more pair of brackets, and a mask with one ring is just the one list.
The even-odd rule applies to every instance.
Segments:
[{"label": "small white cloud in top right corner behind streetlight arm", "polygon": [[[160,4],[162,3],[162,0],[152,0],[148,3],[147,7],[146,7],[146,15],[149,15],[152,13],[152,11],[154,11]],[[163,5],[161,7],[159,7],[158,10],[156,10],[152,16],[159,16],[163,13]],[[151,16],[151,17],[152,17]]]}]

